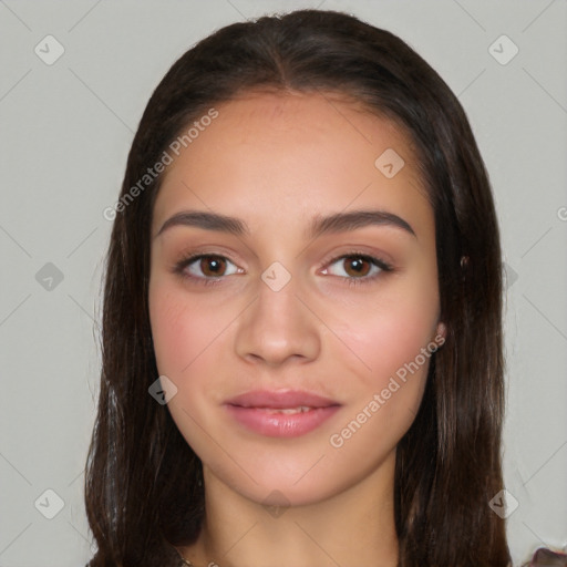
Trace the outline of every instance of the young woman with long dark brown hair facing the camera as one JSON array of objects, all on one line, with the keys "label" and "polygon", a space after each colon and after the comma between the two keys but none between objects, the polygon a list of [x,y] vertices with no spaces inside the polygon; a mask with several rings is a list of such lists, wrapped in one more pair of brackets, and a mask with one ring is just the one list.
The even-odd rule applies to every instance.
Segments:
[{"label": "young woman with long dark brown hair facing the camera", "polygon": [[91,567],[511,564],[494,203],[412,49],[330,11],[217,31],[110,214]]}]

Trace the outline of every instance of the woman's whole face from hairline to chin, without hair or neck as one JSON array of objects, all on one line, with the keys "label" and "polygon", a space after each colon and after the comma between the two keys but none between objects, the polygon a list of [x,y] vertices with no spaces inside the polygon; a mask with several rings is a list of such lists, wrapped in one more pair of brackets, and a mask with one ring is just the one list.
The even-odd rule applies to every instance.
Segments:
[{"label": "woman's whole face from hairline to chin, without hair or neck", "polygon": [[177,389],[168,410],[206,486],[299,505],[392,483],[444,332],[410,144],[319,94],[216,110],[153,213],[150,315],[159,374]]}]

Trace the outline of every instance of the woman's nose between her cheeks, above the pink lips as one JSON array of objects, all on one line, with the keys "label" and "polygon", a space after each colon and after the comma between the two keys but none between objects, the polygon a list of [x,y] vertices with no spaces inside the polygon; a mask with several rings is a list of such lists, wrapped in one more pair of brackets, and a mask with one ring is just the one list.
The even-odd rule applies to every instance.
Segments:
[{"label": "woman's nose between her cheeks, above the pink lips", "polygon": [[297,278],[291,277],[279,290],[260,279],[257,291],[238,319],[238,357],[272,368],[288,360],[307,363],[317,359],[323,323],[305,299]]}]

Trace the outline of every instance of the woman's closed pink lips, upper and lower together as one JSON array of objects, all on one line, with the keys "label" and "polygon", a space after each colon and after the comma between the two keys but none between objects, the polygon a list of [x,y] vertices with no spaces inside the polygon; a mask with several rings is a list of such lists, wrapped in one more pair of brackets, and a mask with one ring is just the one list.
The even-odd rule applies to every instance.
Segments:
[{"label": "woman's closed pink lips, upper and lower together", "polygon": [[[306,412],[274,413],[306,406]],[[237,395],[225,403],[228,413],[256,433],[270,437],[296,437],[309,433],[327,421],[340,408],[338,402],[302,391],[254,391]]]}]

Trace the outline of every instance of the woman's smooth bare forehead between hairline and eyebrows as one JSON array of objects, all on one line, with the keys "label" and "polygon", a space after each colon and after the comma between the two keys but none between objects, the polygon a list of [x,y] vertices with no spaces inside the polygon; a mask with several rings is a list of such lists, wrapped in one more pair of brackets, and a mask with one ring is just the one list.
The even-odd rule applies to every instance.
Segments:
[{"label": "woman's smooth bare forehead between hairline and eyebrows", "polygon": [[431,215],[410,137],[344,96],[248,93],[215,109],[218,116],[173,156],[155,203],[154,233],[184,207],[250,224],[349,204]]}]

